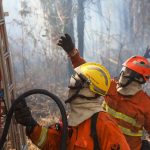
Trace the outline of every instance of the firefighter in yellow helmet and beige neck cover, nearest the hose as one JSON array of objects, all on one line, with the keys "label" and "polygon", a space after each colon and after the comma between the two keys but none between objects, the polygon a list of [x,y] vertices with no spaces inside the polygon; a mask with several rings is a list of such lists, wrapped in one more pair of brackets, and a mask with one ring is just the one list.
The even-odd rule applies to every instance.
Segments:
[{"label": "firefighter in yellow helmet and beige neck cover, nearest the hose", "polygon": [[[108,70],[97,63],[75,68],[69,83],[68,150],[130,150],[117,123],[100,107],[110,86]],[[96,116],[96,117],[95,117]],[[15,107],[16,121],[26,127],[27,136],[43,150],[59,150],[61,125],[40,126],[25,101]],[[96,123],[93,123],[93,118]],[[93,135],[93,136],[92,136]]]}]

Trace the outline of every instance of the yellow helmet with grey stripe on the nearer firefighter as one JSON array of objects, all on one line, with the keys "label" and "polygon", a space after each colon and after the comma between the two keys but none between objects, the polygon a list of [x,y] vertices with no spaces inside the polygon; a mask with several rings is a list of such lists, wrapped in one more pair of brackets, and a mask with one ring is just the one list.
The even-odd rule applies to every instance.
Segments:
[{"label": "yellow helmet with grey stripe on the nearer firefighter", "polygon": [[88,62],[74,69],[89,84],[92,92],[106,95],[110,87],[109,71],[98,63]]}]

